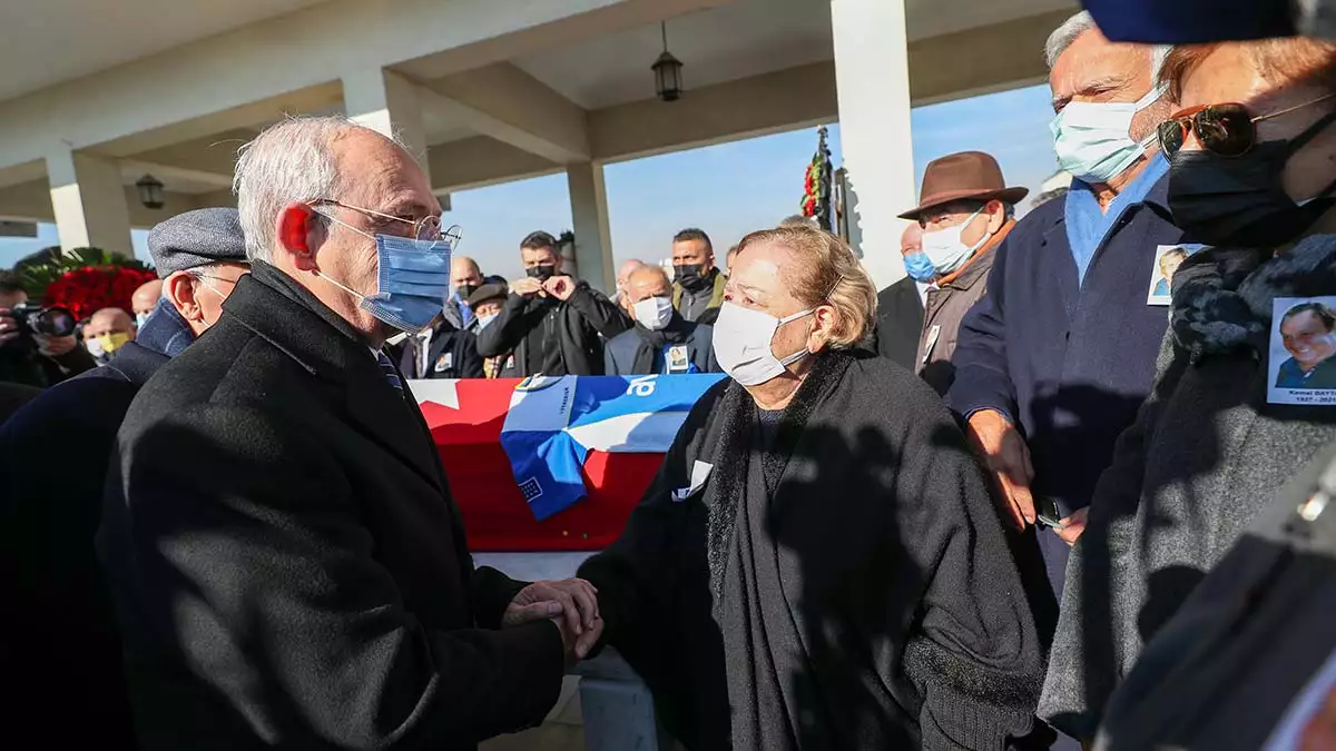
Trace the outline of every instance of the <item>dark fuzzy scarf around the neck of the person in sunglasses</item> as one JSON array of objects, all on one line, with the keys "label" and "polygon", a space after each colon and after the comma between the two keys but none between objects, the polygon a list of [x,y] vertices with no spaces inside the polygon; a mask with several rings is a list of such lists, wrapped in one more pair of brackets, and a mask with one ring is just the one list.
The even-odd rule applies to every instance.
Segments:
[{"label": "dark fuzzy scarf around the neck of the person in sunglasses", "polygon": [[1192,362],[1213,354],[1264,359],[1272,302],[1336,294],[1336,235],[1304,238],[1293,249],[1213,247],[1174,273],[1169,327]]}]

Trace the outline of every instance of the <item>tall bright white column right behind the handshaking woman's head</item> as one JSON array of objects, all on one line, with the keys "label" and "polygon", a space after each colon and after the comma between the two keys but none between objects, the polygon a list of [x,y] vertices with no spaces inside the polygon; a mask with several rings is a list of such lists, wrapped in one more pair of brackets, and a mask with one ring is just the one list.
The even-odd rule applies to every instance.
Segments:
[{"label": "tall bright white column right behind the handshaking woman's head", "polygon": [[904,3],[831,0],[831,25],[840,144],[858,202],[850,235],[862,238],[863,267],[884,287],[904,277],[895,215],[916,204]]}]

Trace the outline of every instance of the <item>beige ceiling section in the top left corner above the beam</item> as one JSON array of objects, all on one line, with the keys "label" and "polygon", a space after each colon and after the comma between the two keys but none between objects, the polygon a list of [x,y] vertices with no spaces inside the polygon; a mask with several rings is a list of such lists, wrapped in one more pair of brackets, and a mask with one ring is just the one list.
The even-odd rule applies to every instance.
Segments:
[{"label": "beige ceiling section in the top left corner above the beam", "polygon": [[[147,57],[323,0],[5,0],[0,99]],[[52,53],[59,51],[59,53]]]}]

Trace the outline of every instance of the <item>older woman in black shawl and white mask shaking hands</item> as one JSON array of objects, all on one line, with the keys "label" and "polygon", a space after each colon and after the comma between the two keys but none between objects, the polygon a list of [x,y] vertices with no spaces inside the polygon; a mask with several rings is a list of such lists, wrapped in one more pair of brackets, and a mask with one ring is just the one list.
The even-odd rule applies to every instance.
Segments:
[{"label": "older woman in black shawl and white mask shaking hands", "polygon": [[876,305],[856,258],[786,227],[735,266],[732,378],[580,571],[607,639],[693,750],[1046,747],[1043,640],[987,480],[931,389],[852,354]]}]

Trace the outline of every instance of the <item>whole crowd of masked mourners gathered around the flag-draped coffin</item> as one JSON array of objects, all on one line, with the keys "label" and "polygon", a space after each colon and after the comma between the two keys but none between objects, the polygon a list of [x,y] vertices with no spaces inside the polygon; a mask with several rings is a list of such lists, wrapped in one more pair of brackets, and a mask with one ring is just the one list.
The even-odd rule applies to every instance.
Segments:
[{"label": "whole crowd of masked mourners gathered around the flag-draped coffin", "polygon": [[[931,162],[880,291],[800,216],[488,275],[329,116],[152,230],[134,317],[0,278],[7,735],[473,748],[612,647],[691,750],[1336,748],[1336,44],[1043,52],[1070,188]],[[411,381],[689,373],[613,545],[474,565]]]}]

